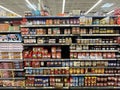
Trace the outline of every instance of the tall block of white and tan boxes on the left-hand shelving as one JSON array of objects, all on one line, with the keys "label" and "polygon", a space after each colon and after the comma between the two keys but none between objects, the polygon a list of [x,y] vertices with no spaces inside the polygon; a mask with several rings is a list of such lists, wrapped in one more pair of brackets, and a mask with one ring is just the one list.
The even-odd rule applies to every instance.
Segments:
[{"label": "tall block of white and tan boxes on the left-hand shelving", "polygon": [[21,43],[0,43],[1,60],[22,60],[23,46]]}]

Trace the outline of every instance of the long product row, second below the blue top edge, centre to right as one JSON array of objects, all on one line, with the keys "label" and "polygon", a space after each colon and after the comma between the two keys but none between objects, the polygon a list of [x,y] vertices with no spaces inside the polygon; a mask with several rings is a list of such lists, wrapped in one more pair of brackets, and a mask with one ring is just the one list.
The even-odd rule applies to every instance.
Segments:
[{"label": "long product row, second below the blue top edge, centre to right", "polygon": [[118,34],[119,29],[114,30],[114,28],[21,28],[22,35],[76,35],[76,34]]}]

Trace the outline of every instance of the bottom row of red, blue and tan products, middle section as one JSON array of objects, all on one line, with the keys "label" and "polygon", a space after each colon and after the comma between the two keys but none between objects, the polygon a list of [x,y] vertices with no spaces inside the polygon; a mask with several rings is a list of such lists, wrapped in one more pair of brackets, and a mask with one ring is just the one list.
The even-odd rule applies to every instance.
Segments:
[{"label": "bottom row of red, blue and tan products, middle section", "polygon": [[27,77],[26,86],[29,87],[69,87],[67,77]]}]

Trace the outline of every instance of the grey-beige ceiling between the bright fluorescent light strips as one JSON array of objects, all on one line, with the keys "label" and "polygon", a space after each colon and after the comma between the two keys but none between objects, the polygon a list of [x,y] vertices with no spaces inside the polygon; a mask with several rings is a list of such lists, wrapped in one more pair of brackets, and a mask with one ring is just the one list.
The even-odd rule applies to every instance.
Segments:
[{"label": "grey-beige ceiling between the bright fluorescent light strips", "polygon": [[[38,6],[38,0],[29,0],[35,6]],[[63,0],[42,0],[43,4],[50,8],[51,15],[56,15],[62,12]],[[98,0],[66,0],[65,1],[65,12],[70,10],[89,10]],[[113,6],[109,8],[101,8],[105,3],[113,3]],[[0,5],[24,16],[24,11],[30,11],[31,8],[28,6],[25,0],[0,0]],[[115,8],[120,7],[120,0],[103,0],[97,7],[95,7],[91,13],[95,12],[109,12]]]}]

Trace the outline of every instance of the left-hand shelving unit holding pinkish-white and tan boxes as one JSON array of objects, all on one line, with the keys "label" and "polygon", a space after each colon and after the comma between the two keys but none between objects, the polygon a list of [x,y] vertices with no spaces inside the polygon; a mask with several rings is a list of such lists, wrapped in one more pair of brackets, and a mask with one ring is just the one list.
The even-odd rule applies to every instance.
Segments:
[{"label": "left-hand shelving unit holding pinkish-white and tan boxes", "polygon": [[[13,64],[18,64],[19,62],[23,64],[23,59],[22,58],[11,58],[14,57],[13,55],[10,55],[10,53],[16,53],[16,52],[20,52],[21,53],[21,57],[22,57],[22,40],[18,40],[18,41],[11,41],[6,39],[5,41],[3,40],[1,35],[12,35],[12,34],[19,34],[20,35],[20,30],[18,28],[18,30],[16,30],[14,28],[10,29],[10,27],[12,27],[10,25],[11,22],[13,21],[21,21],[22,18],[8,18],[8,17],[0,17],[0,25],[1,27],[6,28],[5,26],[2,26],[3,24],[5,24],[5,22],[9,23],[9,28],[8,30],[4,30],[3,28],[0,28],[0,89],[22,89],[23,86],[16,86],[17,84],[15,84],[15,82],[18,80],[22,80],[25,81],[24,76],[19,75],[17,76],[17,74],[24,72],[24,68],[18,68],[18,67],[13,67],[13,68],[9,68],[9,66],[7,65],[3,65],[4,63],[13,63]],[[7,23],[7,24],[8,24]],[[19,25],[17,24],[17,27],[19,27]],[[3,30],[1,30],[3,29]],[[5,38],[5,37],[4,37]],[[7,36],[6,36],[7,38]],[[21,45],[21,47],[17,47],[15,45]],[[7,53],[7,54],[4,54]],[[5,55],[8,55],[8,58],[4,58],[6,57]],[[4,68],[3,68],[4,66]],[[18,65],[19,66],[19,65]],[[23,66],[22,66],[23,67]],[[4,73],[3,73],[4,72]],[[7,72],[11,72],[12,73],[12,77],[9,76],[10,73]],[[2,75],[3,74],[3,75]],[[8,77],[6,76],[6,74],[8,75]],[[10,84],[9,82],[11,82],[12,84]],[[14,83],[13,83],[14,82]]]}]

